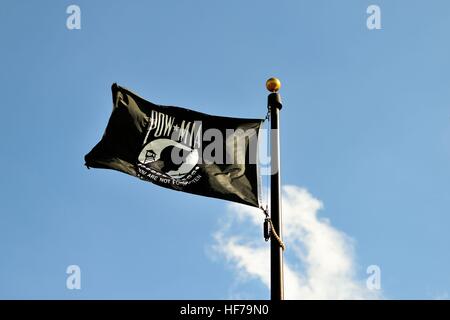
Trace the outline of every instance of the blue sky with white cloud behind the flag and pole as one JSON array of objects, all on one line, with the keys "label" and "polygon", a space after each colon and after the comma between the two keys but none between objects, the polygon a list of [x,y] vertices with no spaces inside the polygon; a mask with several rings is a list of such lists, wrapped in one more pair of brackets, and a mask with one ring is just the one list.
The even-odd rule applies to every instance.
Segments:
[{"label": "blue sky with white cloud behind the flag and pole", "polygon": [[276,76],[286,297],[448,299],[449,15],[445,0],[2,1],[0,298],[268,299],[258,210],[84,155],[113,82],[261,118]]}]

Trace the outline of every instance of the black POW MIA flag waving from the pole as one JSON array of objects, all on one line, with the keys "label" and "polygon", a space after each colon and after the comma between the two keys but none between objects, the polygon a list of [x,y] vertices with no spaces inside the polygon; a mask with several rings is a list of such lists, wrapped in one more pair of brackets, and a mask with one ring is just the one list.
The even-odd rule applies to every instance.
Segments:
[{"label": "black POW MIA flag waving from the pole", "polygon": [[88,168],[125,172],[162,187],[259,206],[262,119],[211,116],[144,100],[112,85],[113,111]]}]

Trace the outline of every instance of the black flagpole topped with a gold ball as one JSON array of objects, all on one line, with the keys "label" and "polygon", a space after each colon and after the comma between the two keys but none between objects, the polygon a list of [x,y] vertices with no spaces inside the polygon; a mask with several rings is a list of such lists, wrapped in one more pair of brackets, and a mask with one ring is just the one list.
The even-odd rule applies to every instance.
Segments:
[{"label": "black flagpole topped with a gold ball", "polygon": [[[270,112],[270,141],[271,141],[271,179],[270,179],[270,218],[276,234],[271,232],[270,239],[270,299],[272,301],[284,300],[284,276],[283,276],[283,248],[281,245],[281,190],[280,190],[280,135],[279,122],[282,108],[281,96],[278,90],[281,87],[280,80],[270,78],[266,82],[267,90],[271,93],[267,99],[267,107]],[[277,239],[278,235],[278,239]]]}]

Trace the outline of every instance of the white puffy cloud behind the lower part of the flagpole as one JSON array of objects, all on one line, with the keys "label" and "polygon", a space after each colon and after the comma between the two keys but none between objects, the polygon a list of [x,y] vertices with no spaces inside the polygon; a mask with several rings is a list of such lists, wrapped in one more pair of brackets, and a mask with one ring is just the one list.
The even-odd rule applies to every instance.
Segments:
[{"label": "white puffy cloud behind the lower part of the flagpole", "polygon": [[[356,279],[354,243],[317,212],[322,203],[307,190],[283,187],[283,237],[286,299],[376,299],[381,294]],[[231,204],[214,234],[213,249],[239,279],[270,287],[269,245],[262,238],[261,210]],[[256,231],[256,232],[255,232]]]}]

